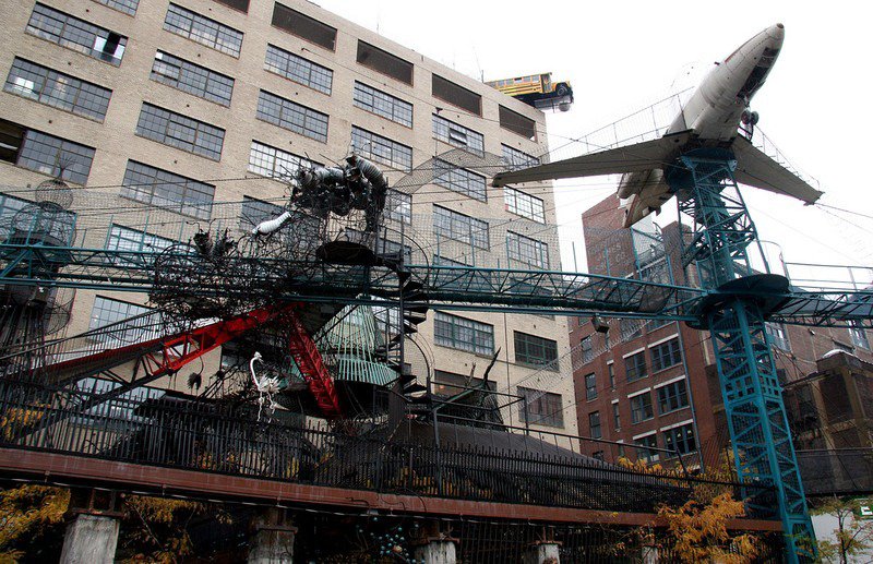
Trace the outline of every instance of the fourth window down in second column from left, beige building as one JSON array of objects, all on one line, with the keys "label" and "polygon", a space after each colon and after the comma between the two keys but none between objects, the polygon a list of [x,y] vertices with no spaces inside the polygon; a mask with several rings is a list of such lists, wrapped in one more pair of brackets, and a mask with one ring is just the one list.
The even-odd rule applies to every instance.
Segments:
[{"label": "fourth window down in second column from left, beige building", "polygon": [[128,160],[121,196],[200,219],[208,219],[215,187]]}]

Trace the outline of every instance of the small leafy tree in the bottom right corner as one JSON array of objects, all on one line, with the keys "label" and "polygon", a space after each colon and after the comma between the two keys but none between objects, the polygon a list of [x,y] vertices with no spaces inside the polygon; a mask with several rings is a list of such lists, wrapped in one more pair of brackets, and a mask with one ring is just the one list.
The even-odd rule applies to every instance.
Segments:
[{"label": "small leafy tree in the bottom right corner", "polygon": [[810,511],[813,515],[830,515],[837,518],[834,529],[836,542],[818,539],[818,554],[823,561],[847,564],[853,556],[873,548],[873,520],[856,517],[860,514],[861,501],[834,496]]}]

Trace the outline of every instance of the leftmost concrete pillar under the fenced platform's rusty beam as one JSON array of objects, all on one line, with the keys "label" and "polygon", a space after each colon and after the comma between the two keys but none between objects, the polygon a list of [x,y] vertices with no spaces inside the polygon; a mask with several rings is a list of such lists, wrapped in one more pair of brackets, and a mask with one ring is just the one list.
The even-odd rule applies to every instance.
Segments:
[{"label": "leftmost concrete pillar under the fenced platform's rusty beam", "polygon": [[121,524],[106,515],[76,515],[63,536],[61,564],[111,564]]}]

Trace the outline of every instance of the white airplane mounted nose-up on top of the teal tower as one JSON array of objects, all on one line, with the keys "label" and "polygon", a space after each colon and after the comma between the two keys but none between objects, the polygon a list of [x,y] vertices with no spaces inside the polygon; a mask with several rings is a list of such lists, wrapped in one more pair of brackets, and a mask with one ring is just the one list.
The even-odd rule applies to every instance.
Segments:
[{"label": "white airplane mounted nose-up on top of the teal tower", "polygon": [[698,147],[721,147],[737,157],[734,179],[738,182],[814,203],[822,192],[738,133],[740,123],[751,131],[757,122],[757,113],[749,109],[749,103],[773,69],[784,38],[785,26],[776,24],[717,63],[662,137],[500,172],[493,185],[622,173],[619,197],[627,200],[624,226],[630,227],[651,212],[660,212],[673,196],[665,181],[665,169],[675,166],[682,153]]}]

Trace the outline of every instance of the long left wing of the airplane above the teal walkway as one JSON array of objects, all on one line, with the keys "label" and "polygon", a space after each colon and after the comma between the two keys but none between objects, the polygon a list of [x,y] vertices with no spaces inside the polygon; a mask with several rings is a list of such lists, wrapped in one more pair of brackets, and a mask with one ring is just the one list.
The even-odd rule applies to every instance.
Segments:
[{"label": "long left wing of the airplane above the teal walkway", "polygon": [[672,133],[653,141],[644,141],[618,148],[600,151],[522,170],[499,172],[493,185],[507,183],[536,182],[559,178],[597,177],[638,172],[662,168],[673,157],[677,147],[684,145],[691,136],[687,132]]}]

